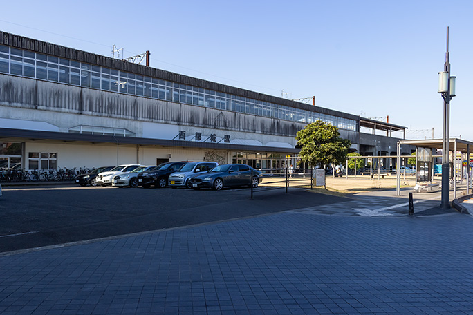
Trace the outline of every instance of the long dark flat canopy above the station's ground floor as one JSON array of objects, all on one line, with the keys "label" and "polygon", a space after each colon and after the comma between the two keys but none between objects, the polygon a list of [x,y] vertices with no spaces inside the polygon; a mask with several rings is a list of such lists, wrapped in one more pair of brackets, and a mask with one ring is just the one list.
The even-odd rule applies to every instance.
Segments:
[{"label": "long dark flat canopy above the station's ground floor", "polygon": [[76,142],[91,144],[140,145],[140,146],[174,146],[195,149],[219,149],[232,151],[257,151],[299,153],[297,148],[280,148],[277,146],[252,146],[246,144],[198,142],[185,140],[151,139],[141,137],[120,137],[113,135],[90,135],[84,133],[59,133],[53,131],[33,131],[24,129],[0,128],[0,140],[8,142]]}]

